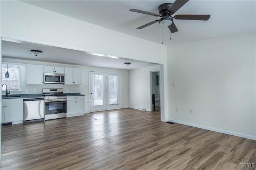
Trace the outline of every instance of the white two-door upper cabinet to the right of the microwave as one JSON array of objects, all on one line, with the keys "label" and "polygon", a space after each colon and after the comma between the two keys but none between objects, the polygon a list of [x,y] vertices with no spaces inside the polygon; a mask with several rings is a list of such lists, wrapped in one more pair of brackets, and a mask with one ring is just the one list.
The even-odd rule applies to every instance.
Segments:
[{"label": "white two-door upper cabinet to the right of the microwave", "polygon": [[65,67],[65,84],[66,85],[81,85],[82,84],[82,69]]}]

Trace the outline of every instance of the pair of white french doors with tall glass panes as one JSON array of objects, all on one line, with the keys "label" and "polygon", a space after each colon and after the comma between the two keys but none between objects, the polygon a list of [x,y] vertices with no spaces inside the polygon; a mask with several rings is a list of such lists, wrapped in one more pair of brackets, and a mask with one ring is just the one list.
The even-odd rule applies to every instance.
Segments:
[{"label": "pair of white french doors with tall glass panes", "polygon": [[90,72],[90,111],[119,109],[119,74]]}]

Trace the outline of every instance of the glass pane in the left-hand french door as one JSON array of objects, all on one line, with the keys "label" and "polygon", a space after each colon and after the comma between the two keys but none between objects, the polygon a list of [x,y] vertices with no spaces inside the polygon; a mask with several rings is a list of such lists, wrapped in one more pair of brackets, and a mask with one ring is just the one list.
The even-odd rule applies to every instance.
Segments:
[{"label": "glass pane in the left-hand french door", "polygon": [[103,105],[103,74],[93,74],[93,106]]}]

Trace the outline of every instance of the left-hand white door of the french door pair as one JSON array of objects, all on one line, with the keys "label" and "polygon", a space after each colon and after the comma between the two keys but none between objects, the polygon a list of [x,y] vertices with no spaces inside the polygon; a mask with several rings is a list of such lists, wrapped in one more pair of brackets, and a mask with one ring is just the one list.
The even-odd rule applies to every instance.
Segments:
[{"label": "left-hand white door of the french door pair", "polygon": [[106,110],[106,73],[90,72],[90,111]]}]

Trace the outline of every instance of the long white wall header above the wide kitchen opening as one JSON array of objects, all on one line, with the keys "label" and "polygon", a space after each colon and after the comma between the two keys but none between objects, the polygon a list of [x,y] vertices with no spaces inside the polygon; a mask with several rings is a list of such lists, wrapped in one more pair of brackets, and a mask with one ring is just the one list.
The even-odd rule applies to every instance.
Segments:
[{"label": "long white wall header above the wide kitchen opening", "polygon": [[[163,64],[166,46],[20,1],[0,1],[1,37]],[[158,56],[158,57],[156,57]]]}]

